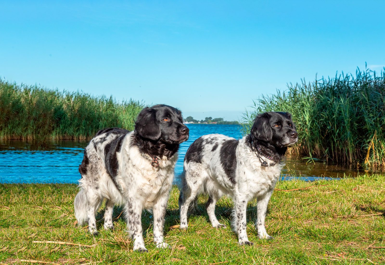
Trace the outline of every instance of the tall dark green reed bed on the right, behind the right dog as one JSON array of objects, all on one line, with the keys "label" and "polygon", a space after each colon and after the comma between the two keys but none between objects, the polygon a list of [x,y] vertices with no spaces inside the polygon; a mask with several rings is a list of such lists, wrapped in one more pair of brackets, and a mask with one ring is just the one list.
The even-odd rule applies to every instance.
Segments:
[{"label": "tall dark green reed bed on the right, behind the right dog", "polygon": [[299,142],[289,153],[371,170],[385,169],[385,68],[357,68],[333,78],[301,79],[284,91],[254,100],[244,113],[243,132],[256,114],[285,111],[293,115]]}]

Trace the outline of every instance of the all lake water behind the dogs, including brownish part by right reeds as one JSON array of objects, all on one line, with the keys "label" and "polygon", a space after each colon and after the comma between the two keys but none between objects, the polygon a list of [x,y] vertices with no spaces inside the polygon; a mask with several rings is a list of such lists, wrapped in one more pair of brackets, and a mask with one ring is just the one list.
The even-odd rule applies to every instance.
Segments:
[{"label": "all lake water behind the dogs, including brownish part by right reeds", "polygon": [[[242,137],[239,125],[188,124],[190,137],[179,148],[179,159],[175,168],[177,176],[183,170],[183,159],[194,140],[209,133],[221,133],[239,139]],[[80,179],[79,164],[83,159],[84,147],[88,142],[52,142],[48,150],[33,150],[28,143],[16,141],[0,142],[0,183],[77,183]],[[325,165],[323,162],[306,164],[303,160],[287,160],[282,179],[339,178],[344,175],[357,176],[340,166]]]}]

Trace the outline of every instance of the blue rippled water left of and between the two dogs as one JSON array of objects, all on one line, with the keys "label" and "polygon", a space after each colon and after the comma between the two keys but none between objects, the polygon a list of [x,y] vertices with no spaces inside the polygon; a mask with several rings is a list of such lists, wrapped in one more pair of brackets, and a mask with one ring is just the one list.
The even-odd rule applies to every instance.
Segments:
[{"label": "blue rippled water left of and between the two dogs", "polygon": [[[239,125],[187,124],[189,140],[179,147],[175,175],[183,170],[184,155],[196,139],[209,133],[241,138]],[[0,142],[0,183],[77,183],[79,164],[88,142],[52,143],[49,150],[31,150],[24,142]]]}]

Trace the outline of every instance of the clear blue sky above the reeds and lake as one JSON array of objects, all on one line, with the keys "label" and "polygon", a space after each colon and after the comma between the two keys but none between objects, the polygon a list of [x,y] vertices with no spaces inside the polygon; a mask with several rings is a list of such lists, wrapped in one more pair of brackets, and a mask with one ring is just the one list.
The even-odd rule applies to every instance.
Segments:
[{"label": "clear blue sky above the reeds and lake", "polygon": [[315,74],[380,71],[385,1],[1,1],[0,76],[237,119]]}]

